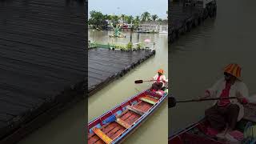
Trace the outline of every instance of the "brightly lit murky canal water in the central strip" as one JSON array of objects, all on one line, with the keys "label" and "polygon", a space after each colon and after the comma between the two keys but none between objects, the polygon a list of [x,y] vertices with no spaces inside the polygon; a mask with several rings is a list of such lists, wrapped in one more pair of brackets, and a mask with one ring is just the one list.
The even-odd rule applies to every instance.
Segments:
[{"label": "brightly lit murky canal water in the central strip", "polygon": [[[109,38],[108,34],[113,31],[90,31],[89,40],[96,42],[130,42],[130,32],[124,32],[126,38]],[[133,42],[143,42],[146,38],[150,38],[151,42],[155,42],[156,54],[135,67],[124,77],[111,82],[109,86],[98,91],[88,99],[88,122],[103,114],[107,110],[114,108],[118,104],[130,98],[138,91],[146,90],[150,87],[151,82],[142,84],[134,84],[134,80],[147,80],[152,78],[159,68],[165,70],[166,78],[168,78],[168,39],[167,34],[139,34],[134,33]],[[124,143],[167,143],[168,137],[168,108],[167,101],[155,111],[142,126],[131,134]]]}]

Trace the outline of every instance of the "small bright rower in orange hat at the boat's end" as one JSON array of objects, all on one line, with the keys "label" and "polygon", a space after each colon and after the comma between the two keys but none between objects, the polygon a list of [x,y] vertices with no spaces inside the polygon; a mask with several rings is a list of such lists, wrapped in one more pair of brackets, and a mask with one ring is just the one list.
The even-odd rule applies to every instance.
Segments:
[{"label": "small bright rower in orange hat at the boat's end", "polygon": [[166,76],[163,75],[163,70],[159,69],[158,70],[158,74],[156,74],[152,80],[154,81],[154,83],[152,84],[150,90],[151,91],[158,91],[158,90],[162,90],[162,88],[165,86],[166,82],[168,82],[168,79],[166,79]]}]

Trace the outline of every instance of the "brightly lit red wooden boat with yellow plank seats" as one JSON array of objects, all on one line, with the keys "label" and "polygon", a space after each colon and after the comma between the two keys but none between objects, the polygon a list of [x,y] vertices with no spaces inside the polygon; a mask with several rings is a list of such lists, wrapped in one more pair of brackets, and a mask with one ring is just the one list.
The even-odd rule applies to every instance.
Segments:
[{"label": "brightly lit red wooden boat with yellow plank seats", "polygon": [[[168,90],[162,95],[145,90],[122,102],[88,124],[88,143],[122,142],[161,106],[167,95]],[[112,117],[114,120],[105,122]]]}]

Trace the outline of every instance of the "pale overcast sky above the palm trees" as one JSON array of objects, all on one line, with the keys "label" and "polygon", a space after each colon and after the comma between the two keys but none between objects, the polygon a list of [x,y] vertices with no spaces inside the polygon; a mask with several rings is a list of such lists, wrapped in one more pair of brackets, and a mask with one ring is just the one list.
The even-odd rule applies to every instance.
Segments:
[{"label": "pale overcast sky above the palm trees", "polygon": [[168,0],[88,0],[88,11],[101,11],[102,14],[141,15],[148,11],[158,14],[159,18],[167,18]]}]

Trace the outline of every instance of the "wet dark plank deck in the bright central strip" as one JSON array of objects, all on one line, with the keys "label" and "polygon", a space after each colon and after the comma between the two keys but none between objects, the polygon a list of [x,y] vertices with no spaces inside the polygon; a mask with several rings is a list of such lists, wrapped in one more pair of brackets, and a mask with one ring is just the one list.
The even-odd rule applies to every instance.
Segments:
[{"label": "wet dark plank deck in the bright central strip", "polygon": [[89,50],[88,91],[90,95],[154,54],[154,50],[120,51],[102,48]]}]

